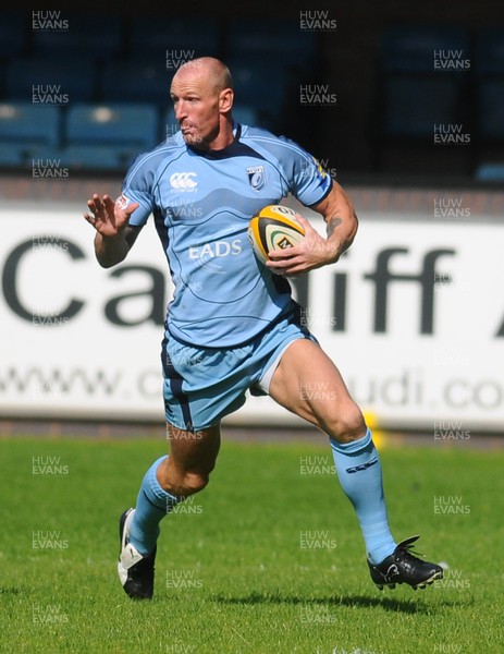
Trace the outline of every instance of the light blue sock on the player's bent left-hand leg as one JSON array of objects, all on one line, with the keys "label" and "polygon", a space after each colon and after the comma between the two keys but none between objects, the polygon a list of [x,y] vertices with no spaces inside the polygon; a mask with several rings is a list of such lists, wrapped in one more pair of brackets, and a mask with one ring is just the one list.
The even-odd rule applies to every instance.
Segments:
[{"label": "light blue sock on the player's bent left-hand leg", "polygon": [[160,529],[159,523],[185,497],[175,497],[161,488],[156,471],[161,457],[152,463],[144,476],[140,491],[136,500],[135,514],[131,521],[130,542],[144,556],[147,556],[156,546]]}]

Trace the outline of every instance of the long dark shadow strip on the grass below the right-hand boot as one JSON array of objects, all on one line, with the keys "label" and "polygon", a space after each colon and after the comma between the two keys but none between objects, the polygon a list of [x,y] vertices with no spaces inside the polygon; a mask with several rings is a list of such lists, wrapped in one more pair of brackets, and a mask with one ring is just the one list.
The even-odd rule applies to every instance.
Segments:
[{"label": "long dark shadow strip on the grass below the right-hand boot", "polygon": [[[219,594],[212,597],[220,604],[292,604],[303,606],[348,606],[351,608],[373,608],[381,607],[384,610],[391,610],[404,614],[428,614],[435,611],[435,607],[418,602],[417,597],[411,600],[394,600],[392,597],[371,597],[367,595],[331,595],[328,597],[304,597],[300,595],[287,595],[285,593],[261,593],[254,591],[248,595],[241,597],[230,597]],[[439,606],[439,604],[438,604]],[[442,607],[460,606],[460,602],[444,601]]]}]

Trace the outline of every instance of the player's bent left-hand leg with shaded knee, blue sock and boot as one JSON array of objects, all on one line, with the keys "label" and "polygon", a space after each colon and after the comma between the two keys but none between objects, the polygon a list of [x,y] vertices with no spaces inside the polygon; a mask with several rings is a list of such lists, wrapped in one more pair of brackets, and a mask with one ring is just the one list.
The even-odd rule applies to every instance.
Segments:
[{"label": "player's bent left-hand leg with shaded knee, blue sock and boot", "polygon": [[184,431],[168,424],[170,455],[161,457],[144,476],[135,509],[121,517],[118,572],[124,591],[150,598],[160,521],[189,495],[202,491],[216,465],[220,426]]}]

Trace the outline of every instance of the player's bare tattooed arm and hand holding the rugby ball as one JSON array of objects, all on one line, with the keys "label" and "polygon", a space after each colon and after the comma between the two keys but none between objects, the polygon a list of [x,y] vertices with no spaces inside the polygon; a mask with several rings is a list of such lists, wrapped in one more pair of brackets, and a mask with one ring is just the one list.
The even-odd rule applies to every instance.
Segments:
[{"label": "player's bare tattooed arm and hand holding the rugby ball", "polygon": [[328,264],[334,264],[352,245],[357,233],[358,220],[348,195],[333,181],[331,191],[319,203],[310,207],[321,214],[327,223],[327,238],[321,237],[302,216],[305,228],[302,245],[270,253],[267,266],[278,275],[293,276],[308,272]]}]

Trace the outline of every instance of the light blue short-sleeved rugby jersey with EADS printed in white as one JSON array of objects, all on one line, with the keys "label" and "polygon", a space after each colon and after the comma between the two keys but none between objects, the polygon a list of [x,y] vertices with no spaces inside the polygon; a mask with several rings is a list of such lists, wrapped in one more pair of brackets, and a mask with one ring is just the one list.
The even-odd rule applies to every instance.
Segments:
[{"label": "light blue short-sleeved rugby jersey with EADS printed in white", "polygon": [[174,283],[169,332],[200,347],[233,347],[285,313],[291,286],[255,257],[249,220],[288,193],[317,204],[331,186],[296,143],[245,125],[222,150],[195,150],[177,132],[140,155],[122,193],[140,205],[130,225],[144,226],[153,215]]}]

